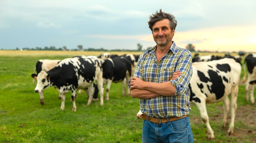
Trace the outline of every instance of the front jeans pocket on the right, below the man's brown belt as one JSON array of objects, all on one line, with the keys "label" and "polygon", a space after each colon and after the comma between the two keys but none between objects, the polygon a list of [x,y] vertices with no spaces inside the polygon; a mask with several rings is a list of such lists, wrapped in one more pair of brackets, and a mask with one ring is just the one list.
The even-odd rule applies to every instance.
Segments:
[{"label": "front jeans pocket on the right, below the man's brown belt", "polygon": [[173,131],[181,132],[188,129],[186,118],[178,119],[170,122],[170,127]]}]

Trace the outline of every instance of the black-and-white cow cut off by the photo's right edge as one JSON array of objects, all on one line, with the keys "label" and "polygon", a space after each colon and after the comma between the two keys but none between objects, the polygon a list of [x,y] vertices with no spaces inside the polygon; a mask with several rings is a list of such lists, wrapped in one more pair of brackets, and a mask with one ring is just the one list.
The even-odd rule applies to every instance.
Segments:
[{"label": "black-and-white cow cut off by the photo's right edge", "polygon": [[[245,63],[247,67],[247,72],[245,68]],[[243,83],[245,83],[245,100],[249,101],[249,94],[250,94],[250,101],[254,103],[254,87],[255,87],[255,80],[256,80],[256,54],[249,54],[245,57],[244,63],[244,77]],[[246,80],[246,73],[248,73],[247,80]],[[245,82],[246,80],[246,82]]]}]

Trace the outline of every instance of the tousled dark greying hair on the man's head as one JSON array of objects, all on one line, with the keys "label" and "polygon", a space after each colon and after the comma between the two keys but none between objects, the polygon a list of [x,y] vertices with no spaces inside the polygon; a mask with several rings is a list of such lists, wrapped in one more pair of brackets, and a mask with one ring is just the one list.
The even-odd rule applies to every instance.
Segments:
[{"label": "tousled dark greying hair on the man's head", "polygon": [[177,26],[177,20],[172,14],[162,12],[162,9],[160,9],[159,12],[157,11],[155,14],[152,14],[149,16],[148,27],[153,32],[153,25],[157,21],[164,20],[164,19],[169,19],[171,30],[175,30]]}]

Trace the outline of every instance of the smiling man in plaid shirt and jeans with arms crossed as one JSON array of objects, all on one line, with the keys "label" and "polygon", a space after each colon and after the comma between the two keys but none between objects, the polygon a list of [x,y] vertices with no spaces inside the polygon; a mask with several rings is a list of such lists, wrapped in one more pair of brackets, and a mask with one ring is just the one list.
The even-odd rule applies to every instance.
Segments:
[{"label": "smiling man in plaid shirt and jeans with arms crossed", "polygon": [[156,46],[142,53],[129,81],[143,113],[142,142],[193,142],[188,113],[191,53],[172,41],[177,21],[160,11],[149,16]]}]

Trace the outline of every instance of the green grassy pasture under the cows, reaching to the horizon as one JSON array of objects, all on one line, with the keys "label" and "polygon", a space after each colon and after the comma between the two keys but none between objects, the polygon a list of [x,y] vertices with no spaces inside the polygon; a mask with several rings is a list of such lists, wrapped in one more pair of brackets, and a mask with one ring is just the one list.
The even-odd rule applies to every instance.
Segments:
[{"label": "green grassy pasture under the cows, reaching to the horizon", "polygon": [[[58,91],[44,91],[45,105],[34,92],[31,74],[39,59],[64,59],[95,55],[102,52],[78,51],[0,51],[0,142],[3,143],[131,143],[141,142],[142,120],[137,119],[139,100],[122,97],[121,83],[112,83],[109,100],[87,106],[86,93],[76,98],[77,111],[72,112],[70,95],[65,110],[60,110]],[[109,52],[136,54],[142,52]],[[204,53],[206,54],[206,53]],[[221,53],[220,56],[224,54]],[[243,76],[243,68],[242,75]],[[256,95],[256,91],[254,91]],[[189,114],[194,142],[256,142],[256,104],[245,101],[245,86],[239,86],[234,134],[222,130],[222,103],[207,104],[207,112],[215,140],[208,141],[206,126],[195,104]],[[230,117],[230,116],[229,116]],[[230,118],[228,123],[230,122]]]}]

